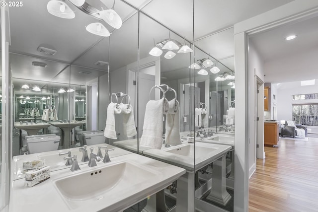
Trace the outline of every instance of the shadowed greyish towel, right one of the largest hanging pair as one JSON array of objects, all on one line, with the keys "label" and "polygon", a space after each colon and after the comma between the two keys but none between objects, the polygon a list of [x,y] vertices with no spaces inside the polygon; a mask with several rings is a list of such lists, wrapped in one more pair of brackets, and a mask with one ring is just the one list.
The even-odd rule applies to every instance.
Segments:
[{"label": "shadowed greyish towel, right one of the largest hanging pair", "polygon": [[169,101],[169,110],[165,115],[165,142],[170,145],[181,144],[180,105],[178,100]]}]

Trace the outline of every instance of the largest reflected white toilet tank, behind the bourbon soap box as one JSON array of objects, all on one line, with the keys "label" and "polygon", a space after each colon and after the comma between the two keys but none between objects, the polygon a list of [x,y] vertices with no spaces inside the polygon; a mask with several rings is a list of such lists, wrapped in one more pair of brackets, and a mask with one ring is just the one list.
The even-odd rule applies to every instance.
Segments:
[{"label": "largest reflected white toilet tank, behind the bourbon soap box", "polygon": [[60,136],[42,135],[42,137],[26,138],[26,146],[29,154],[39,153],[44,151],[58,150],[60,143]]}]

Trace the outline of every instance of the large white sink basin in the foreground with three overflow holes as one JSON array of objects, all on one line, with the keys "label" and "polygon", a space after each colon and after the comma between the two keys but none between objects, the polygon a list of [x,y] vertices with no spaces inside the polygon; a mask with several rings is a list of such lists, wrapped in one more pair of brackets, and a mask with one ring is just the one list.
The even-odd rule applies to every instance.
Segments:
[{"label": "large white sink basin in the foreground with three overflow holes", "polygon": [[159,174],[132,162],[119,162],[106,167],[88,170],[54,182],[60,194],[72,209],[121,193],[126,189],[141,186]]}]

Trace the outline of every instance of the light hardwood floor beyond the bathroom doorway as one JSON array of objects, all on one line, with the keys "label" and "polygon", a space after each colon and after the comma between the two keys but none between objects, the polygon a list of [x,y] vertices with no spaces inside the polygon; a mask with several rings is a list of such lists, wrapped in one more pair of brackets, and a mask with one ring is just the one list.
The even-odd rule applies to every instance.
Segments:
[{"label": "light hardwood floor beyond the bathroom doorway", "polygon": [[318,212],[318,138],[265,146],[249,180],[249,212]]}]

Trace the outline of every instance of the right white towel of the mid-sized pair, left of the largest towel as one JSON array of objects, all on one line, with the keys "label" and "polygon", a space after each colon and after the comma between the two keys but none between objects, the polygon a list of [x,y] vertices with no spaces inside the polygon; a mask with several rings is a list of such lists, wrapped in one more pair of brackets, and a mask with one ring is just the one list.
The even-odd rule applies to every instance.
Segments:
[{"label": "right white towel of the mid-sized pair, left of the largest towel", "polygon": [[120,103],[119,107],[123,114],[124,132],[126,132],[127,137],[136,136],[137,130],[135,126],[133,107],[131,104],[124,103]]}]

